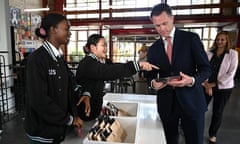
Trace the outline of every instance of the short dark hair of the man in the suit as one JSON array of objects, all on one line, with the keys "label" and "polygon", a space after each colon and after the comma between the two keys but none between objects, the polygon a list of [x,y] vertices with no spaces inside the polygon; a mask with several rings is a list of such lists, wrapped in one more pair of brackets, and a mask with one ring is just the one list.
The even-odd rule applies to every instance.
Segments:
[{"label": "short dark hair of the man in the suit", "polygon": [[171,7],[168,4],[166,4],[166,3],[160,3],[160,4],[155,5],[152,8],[151,18],[153,16],[160,15],[162,12],[166,12],[169,16],[172,16],[172,9],[171,9]]}]

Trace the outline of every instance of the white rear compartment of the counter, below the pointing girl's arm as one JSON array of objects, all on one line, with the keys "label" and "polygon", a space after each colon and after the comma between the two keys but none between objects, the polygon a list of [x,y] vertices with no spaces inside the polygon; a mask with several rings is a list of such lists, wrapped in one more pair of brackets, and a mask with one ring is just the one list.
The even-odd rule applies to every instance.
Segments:
[{"label": "white rear compartment of the counter, below the pointing girl's arm", "polygon": [[[117,101],[104,101],[103,107],[107,105],[107,103],[110,102],[114,106],[116,106],[118,109],[121,109],[125,112],[127,112],[129,115],[126,117],[137,117],[138,114],[138,103],[133,102],[117,102]],[[124,117],[124,116],[123,116]]]}]

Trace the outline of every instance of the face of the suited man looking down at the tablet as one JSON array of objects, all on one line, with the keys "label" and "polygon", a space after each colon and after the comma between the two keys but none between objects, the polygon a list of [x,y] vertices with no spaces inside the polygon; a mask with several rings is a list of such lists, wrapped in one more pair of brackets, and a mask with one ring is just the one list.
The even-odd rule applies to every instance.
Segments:
[{"label": "face of the suited man looking down at the tablet", "polygon": [[162,12],[158,16],[152,16],[152,22],[157,32],[162,37],[167,37],[173,29],[174,16],[169,16],[166,12]]}]

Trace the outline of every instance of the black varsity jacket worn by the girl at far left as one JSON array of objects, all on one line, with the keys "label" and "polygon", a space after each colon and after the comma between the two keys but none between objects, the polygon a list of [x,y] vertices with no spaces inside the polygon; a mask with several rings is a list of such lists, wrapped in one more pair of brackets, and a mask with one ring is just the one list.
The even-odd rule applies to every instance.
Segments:
[{"label": "black varsity jacket worn by the girl at far left", "polygon": [[64,137],[73,115],[66,64],[54,60],[41,46],[29,56],[26,72],[26,133],[49,139]]}]

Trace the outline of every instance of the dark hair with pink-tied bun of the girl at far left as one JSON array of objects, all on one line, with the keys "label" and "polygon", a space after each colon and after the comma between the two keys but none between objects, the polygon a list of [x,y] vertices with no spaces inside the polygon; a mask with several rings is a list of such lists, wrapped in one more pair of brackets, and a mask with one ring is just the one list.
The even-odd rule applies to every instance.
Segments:
[{"label": "dark hair with pink-tied bun of the girl at far left", "polygon": [[40,38],[47,38],[49,36],[49,30],[51,27],[57,27],[57,25],[63,20],[67,21],[67,18],[58,13],[50,13],[42,18],[40,28],[35,30],[35,34]]}]

